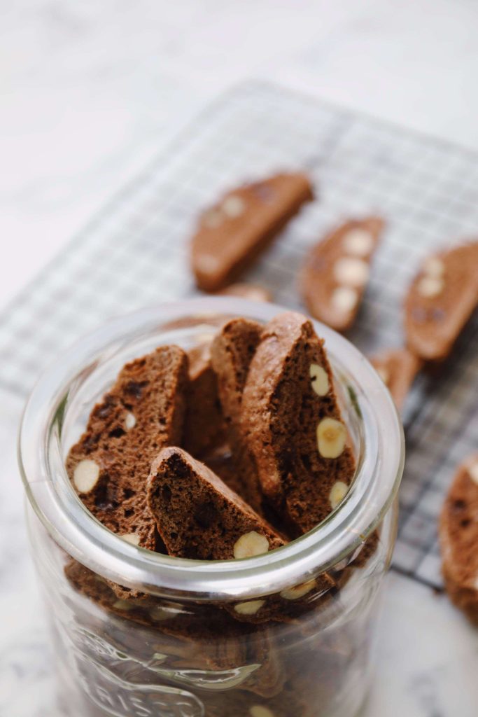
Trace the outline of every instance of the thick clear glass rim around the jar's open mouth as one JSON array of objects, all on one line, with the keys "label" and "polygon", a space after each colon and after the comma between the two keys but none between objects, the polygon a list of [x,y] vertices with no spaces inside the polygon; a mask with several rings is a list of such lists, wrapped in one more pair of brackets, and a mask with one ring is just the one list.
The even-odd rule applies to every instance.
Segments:
[{"label": "thick clear glass rim around the jar's open mouth", "polygon": [[87,511],[67,477],[55,427],[68,391],[105,356],[128,342],[186,317],[248,316],[268,321],[287,309],[234,297],[157,305],[103,324],[77,341],[37,381],[21,419],[19,466],[27,497],[49,535],[67,554],[117,583],[163,597],[229,600],[260,597],[326,571],[375,530],[403,473],[403,428],[375,369],[347,339],[313,321],[334,369],[347,382],[360,414],[365,450],[353,485],[325,521],[287,545],[242,560],[180,559],[140,549],[109,531]]}]

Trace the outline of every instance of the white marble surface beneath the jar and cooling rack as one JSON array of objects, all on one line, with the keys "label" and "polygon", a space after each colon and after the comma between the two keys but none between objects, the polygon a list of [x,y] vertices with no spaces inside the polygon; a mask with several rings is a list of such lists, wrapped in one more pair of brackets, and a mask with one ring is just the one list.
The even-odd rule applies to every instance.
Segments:
[{"label": "white marble surface beneath the jar and cooling rack", "polygon": [[[16,0],[0,15],[0,305],[244,77],[478,148],[473,0]],[[52,717],[15,467],[20,409],[0,397],[0,714]],[[365,717],[474,717],[477,670],[477,632],[445,597],[391,574]]]}]

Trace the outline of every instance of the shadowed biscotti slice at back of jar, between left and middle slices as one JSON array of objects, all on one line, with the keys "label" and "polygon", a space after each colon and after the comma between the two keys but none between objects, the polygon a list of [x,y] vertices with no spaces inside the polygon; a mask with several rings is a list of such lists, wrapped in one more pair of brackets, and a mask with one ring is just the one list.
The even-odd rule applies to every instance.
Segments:
[{"label": "shadowed biscotti slice at back of jar, between left and middle slices", "polygon": [[217,391],[217,378],[211,365],[211,343],[188,351],[189,386],[183,447],[201,458],[225,440],[224,420]]}]

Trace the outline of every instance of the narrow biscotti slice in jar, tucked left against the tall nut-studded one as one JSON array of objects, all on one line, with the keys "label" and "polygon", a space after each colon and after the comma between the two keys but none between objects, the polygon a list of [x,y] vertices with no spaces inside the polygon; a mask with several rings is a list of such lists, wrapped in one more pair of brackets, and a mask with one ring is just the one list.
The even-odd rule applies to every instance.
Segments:
[{"label": "narrow biscotti slice in jar, tucked left against the tall nut-studded one", "polygon": [[259,344],[262,328],[257,321],[234,318],[224,324],[211,344],[211,361],[216,371],[227,440],[239,475],[239,480],[231,487],[252,505],[254,511],[261,514],[262,491],[254,460],[244,440],[241,406],[249,364]]}]

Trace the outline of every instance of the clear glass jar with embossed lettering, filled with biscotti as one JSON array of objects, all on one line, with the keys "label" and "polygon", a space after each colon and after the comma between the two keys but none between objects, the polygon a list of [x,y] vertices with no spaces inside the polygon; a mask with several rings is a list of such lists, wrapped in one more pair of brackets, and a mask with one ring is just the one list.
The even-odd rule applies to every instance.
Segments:
[{"label": "clear glass jar with embossed lettering, filled with biscotti", "polygon": [[[34,389],[19,455],[62,713],[352,717],[362,705],[396,536],[403,434],[388,390],[345,338],[315,326],[355,448],[355,479],[320,526],[281,549],[240,561],[145,551],[95,520],[64,469],[126,361],[165,343],[191,348],[229,316],[264,322],[280,310],[206,298],[130,314],[78,342]],[[134,591],[128,599],[125,588]],[[262,622],[254,614],[267,603]],[[235,612],[237,604],[248,607]]]}]

